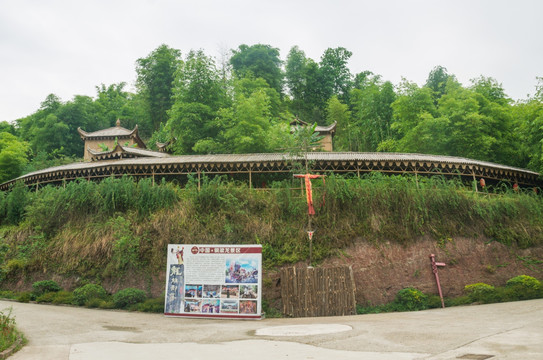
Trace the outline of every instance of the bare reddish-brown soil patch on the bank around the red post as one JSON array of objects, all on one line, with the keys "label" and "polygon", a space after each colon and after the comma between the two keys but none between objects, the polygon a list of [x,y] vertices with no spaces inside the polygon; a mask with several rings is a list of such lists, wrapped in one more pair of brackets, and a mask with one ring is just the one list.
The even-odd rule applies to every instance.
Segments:
[{"label": "bare reddish-brown soil patch on the bank around the red post", "polygon": [[[438,294],[430,254],[436,255],[438,275],[445,297],[463,294],[464,286],[484,282],[504,286],[517,275],[542,279],[543,248],[518,249],[484,239],[455,238],[438,244],[420,239],[408,245],[371,244],[360,241],[343,251],[343,256],[326,260],[321,266],[350,265],[356,283],[356,300],[361,305],[379,305],[394,300],[396,293],[415,287],[427,294]],[[305,266],[299,264],[297,266]],[[273,274],[274,280],[277,274]],[[268,296],[277,298],[277,281]],[[275,291],[273,291],[275,290]],[[279,289],[280,290],[280,289]],[[280,293],[279,293],[280,297]]]}]

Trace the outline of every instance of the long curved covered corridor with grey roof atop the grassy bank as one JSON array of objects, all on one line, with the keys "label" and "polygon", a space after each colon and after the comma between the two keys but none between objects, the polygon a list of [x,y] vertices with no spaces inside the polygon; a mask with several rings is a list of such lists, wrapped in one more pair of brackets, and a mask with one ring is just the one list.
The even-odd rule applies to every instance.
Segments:
[{"label": "long curved covered corridor with grey roof atop the grassy bank", "polygon": [[[313,173],[333,172],[360,176],[369,172],[384,174],[417,174],[460,177],[465,182],[485,179],[487,183],[508,182],[523,187],[539,187],[539,173],[461,157],[400,153],[313,152],[307,154]],[[76,179],[100,180],[110,176],[128,175],[134,178],[151,177],[183,181],[193,176],[229,174],[249,181],[261,174],[288,174],[293,163],[304,163],[303,157],[283,153],[184,155],[163,158],[134,157],[118,160],[79,162],[35,171],[0,184],[9,190],[17,181],[28,186],[60,185]]]}]

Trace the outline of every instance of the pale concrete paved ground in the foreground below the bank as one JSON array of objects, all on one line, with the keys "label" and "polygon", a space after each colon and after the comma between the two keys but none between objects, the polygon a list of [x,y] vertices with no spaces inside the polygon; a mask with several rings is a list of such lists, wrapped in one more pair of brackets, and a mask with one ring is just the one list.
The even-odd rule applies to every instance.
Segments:
[{"label": "pale concrete paved ground in the foreground below the bank", "polygon": [[543,300],[262,321],[8,307],[29,340],[11,360],[543,359]]}]

